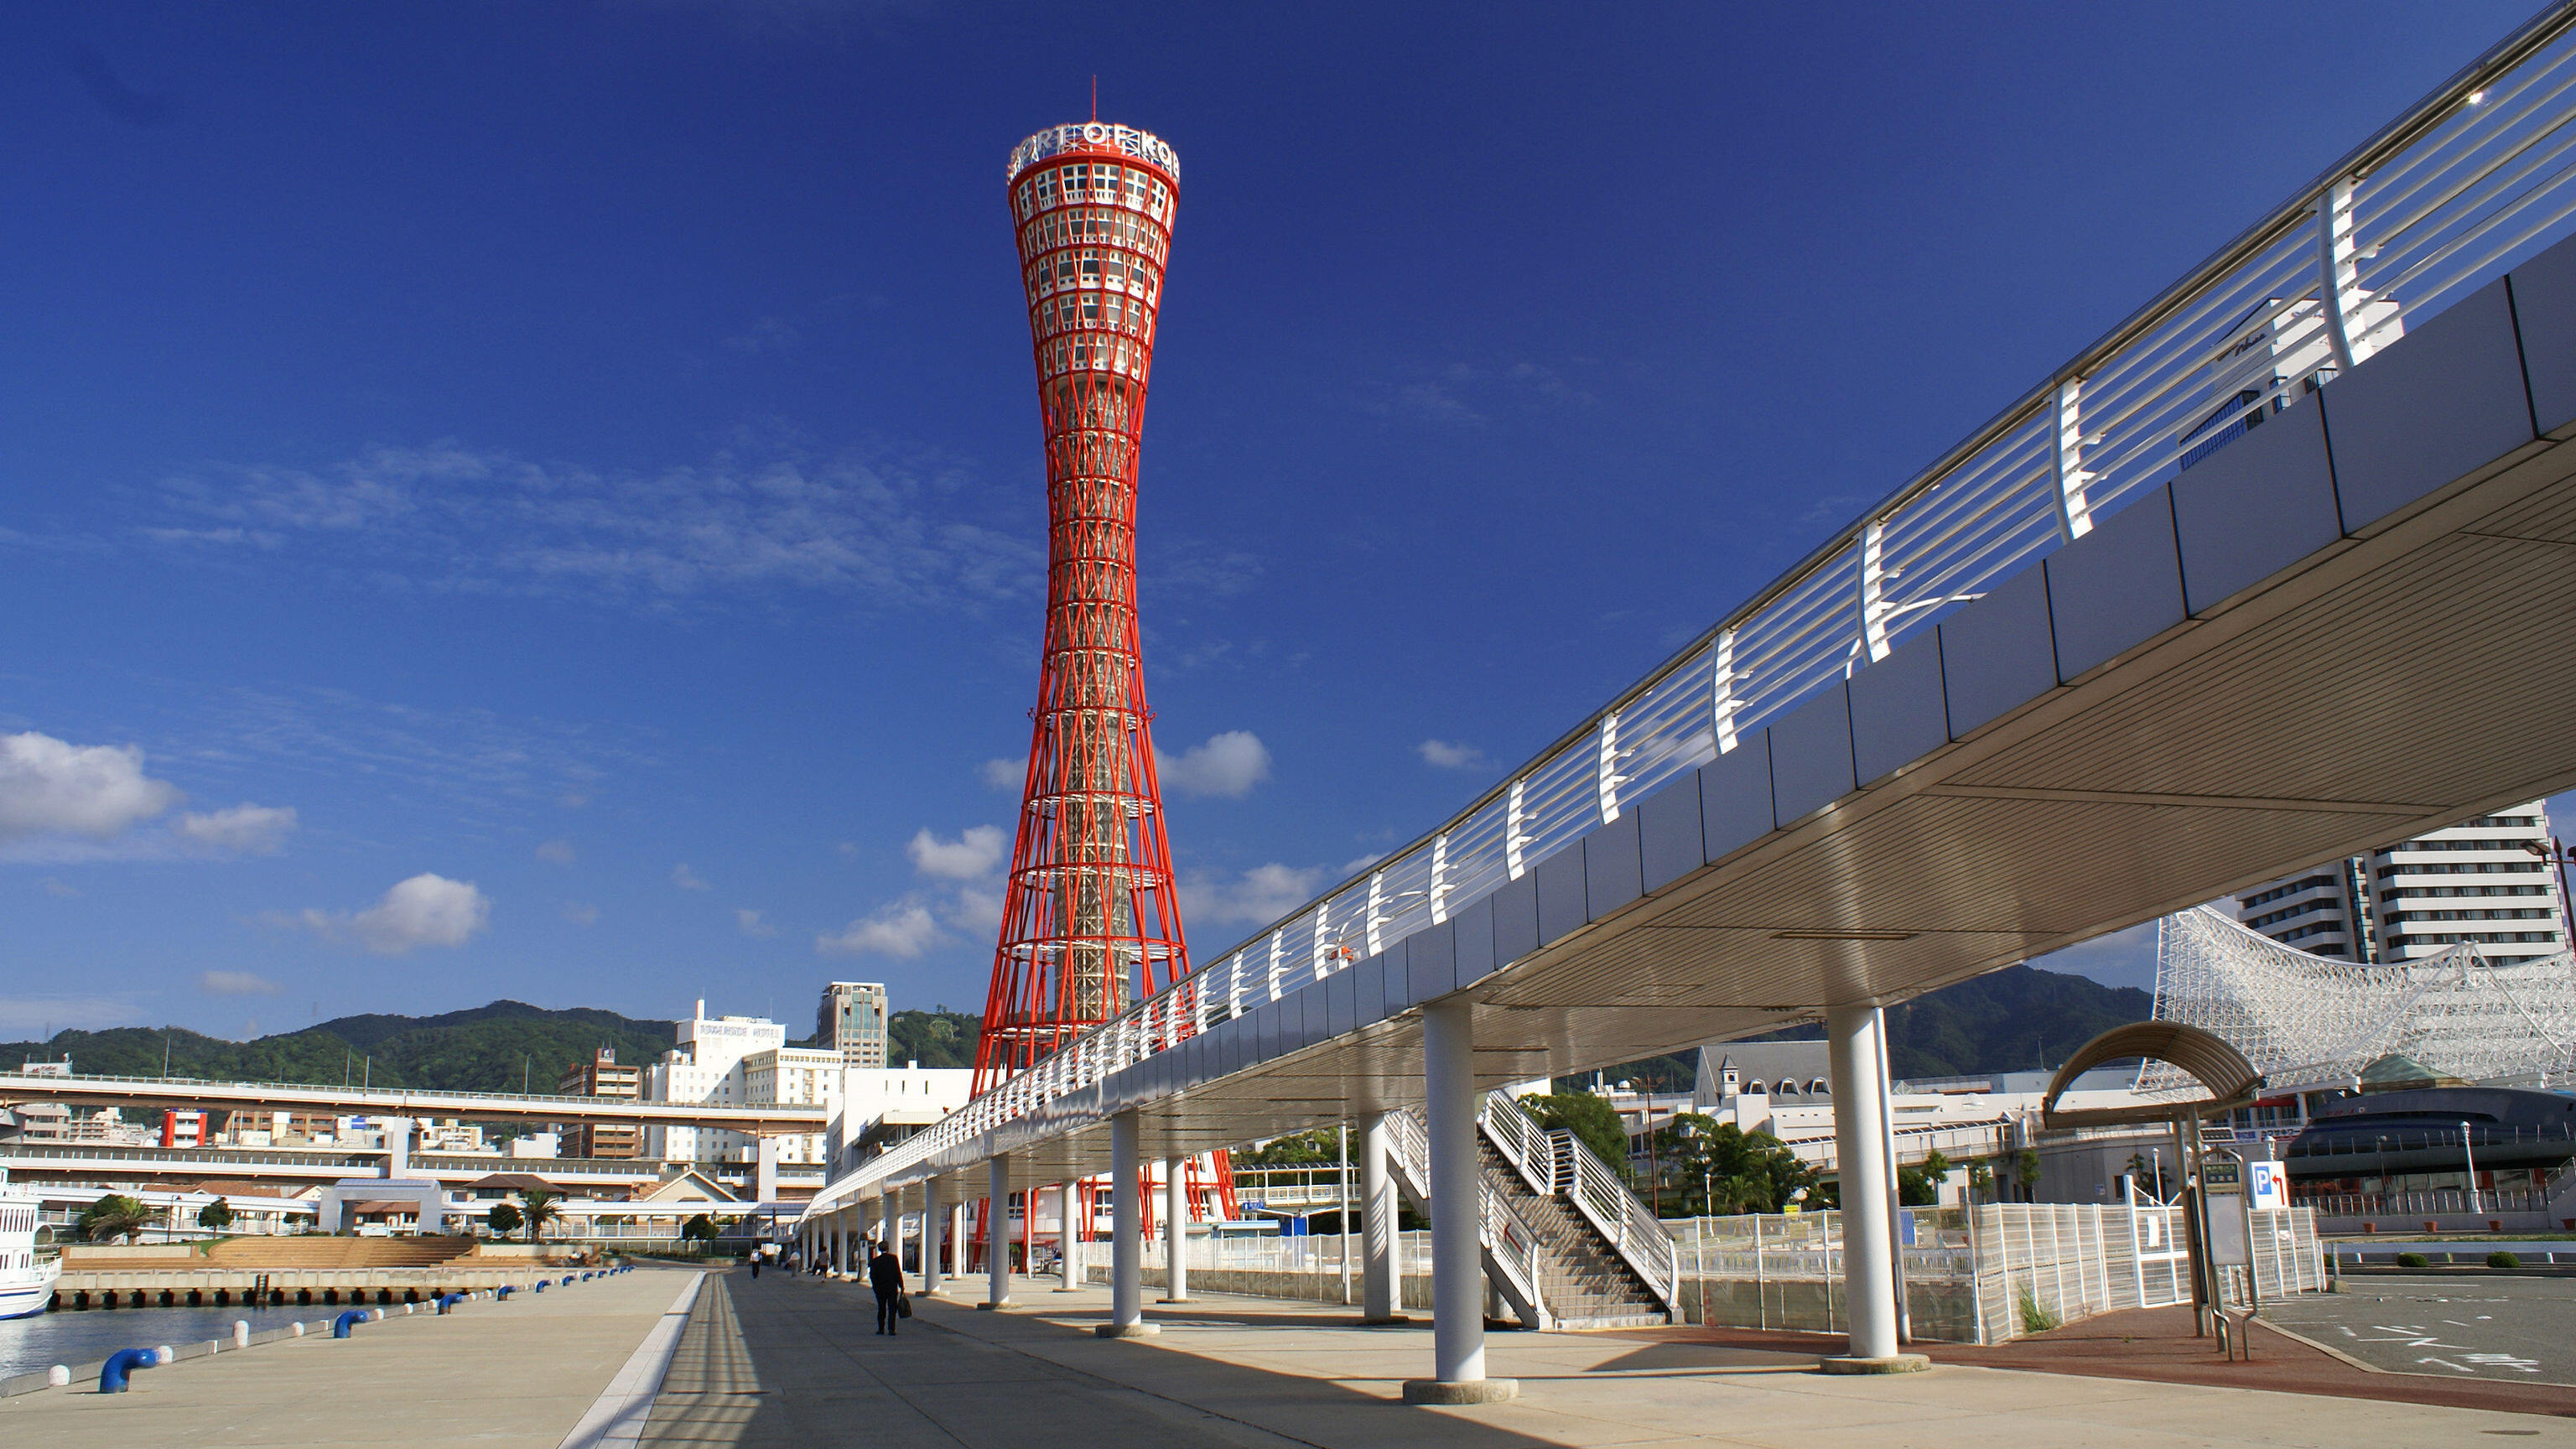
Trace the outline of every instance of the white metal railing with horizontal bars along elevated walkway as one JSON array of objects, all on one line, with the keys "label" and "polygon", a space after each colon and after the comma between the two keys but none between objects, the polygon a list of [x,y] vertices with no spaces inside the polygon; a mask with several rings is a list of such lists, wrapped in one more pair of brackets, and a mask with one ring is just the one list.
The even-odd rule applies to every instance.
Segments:
[{"label": "white metal railing with horizontal bars along elevated walkway", "polygon": [[1448,920],[2558,240],[2576,214],[2571,23],[2576,0],[2543,10],[1440,828],[866,1173]]}]

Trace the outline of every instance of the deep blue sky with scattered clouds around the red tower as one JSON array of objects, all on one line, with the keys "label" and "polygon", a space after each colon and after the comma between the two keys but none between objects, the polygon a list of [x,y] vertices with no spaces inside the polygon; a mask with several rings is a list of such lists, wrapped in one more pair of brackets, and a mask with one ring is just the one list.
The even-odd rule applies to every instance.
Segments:
[{"label": "deep blue sky with scattered clouds around the red tower", "polygon": [[1213,957],[2524,13],[10,8],[0,1034],[981,1008],[1002,160],[1095,72],[1182,157],[1141,593]]}]

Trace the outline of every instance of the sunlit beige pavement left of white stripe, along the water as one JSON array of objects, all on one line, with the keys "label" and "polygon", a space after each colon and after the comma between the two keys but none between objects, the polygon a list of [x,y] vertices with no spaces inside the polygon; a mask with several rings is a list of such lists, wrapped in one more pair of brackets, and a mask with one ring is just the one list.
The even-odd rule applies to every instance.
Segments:
[{"label": "sunlit beige pavement left of white stripe, along the water", "polygon": [[[394,1310],[319,1336],[0,1400],[0,1441],[44,1449],[556,1449],[693,1269],[636,1269],[446,1318]],[[325,1310],[314,1310],[319,1315]],[[337,1310],[330,1310],[337,1312]]]}]

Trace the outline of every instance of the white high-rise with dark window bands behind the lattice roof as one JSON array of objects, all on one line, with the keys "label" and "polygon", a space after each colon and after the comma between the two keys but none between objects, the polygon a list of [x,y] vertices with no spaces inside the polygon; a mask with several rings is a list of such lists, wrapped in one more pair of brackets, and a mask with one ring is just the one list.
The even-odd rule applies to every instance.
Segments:
[{"label": "white high-rise with dark window bands behind the lattice roof", "polygon": [[2414,962],[2460,944],[2488,962],[2568,949],[2543,802],[2326,861],[2239,892],[2236,920],[2313,957]]}]

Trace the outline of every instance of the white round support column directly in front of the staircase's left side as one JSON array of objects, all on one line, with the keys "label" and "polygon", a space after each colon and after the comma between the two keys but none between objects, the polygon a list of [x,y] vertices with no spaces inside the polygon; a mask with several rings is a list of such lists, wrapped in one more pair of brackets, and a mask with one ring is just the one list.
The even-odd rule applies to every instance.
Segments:
[{"label": "white round support column directly in front of the staircase's left side", "polygon": [[1422,1088],[1432,1189],[1432,1377],[1406,1379],[1404,1403],[1499,1403],[1512,1379],[1484,1377],[1484,1181],[1476,1171],[1476,1006],[1422,1008]]}]

